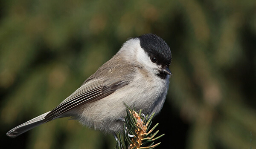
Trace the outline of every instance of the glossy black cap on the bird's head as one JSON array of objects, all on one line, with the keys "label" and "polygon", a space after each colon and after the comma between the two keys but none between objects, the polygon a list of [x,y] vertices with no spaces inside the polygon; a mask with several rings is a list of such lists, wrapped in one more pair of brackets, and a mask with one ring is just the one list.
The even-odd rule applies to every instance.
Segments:
[{"label": "glossy black cap on the bird's head", "polygon": [[169,65],[172,53],[167,43],[155,34],[143,34],[140,37],[140,46],[150,57],[157,59],[159,65]]}]

